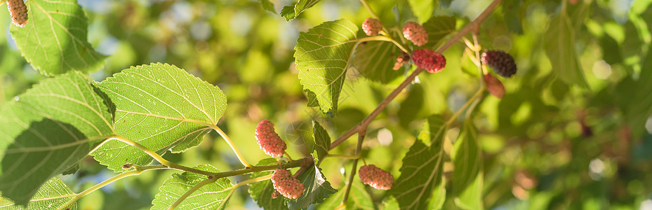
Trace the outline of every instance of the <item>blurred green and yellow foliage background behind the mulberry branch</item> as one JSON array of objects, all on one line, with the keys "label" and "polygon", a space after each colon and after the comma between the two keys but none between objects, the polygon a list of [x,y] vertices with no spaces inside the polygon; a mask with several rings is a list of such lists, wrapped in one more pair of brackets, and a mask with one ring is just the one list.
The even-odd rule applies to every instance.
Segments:
[{"label": "blurred green and yellow foliage background behind the mulberry branch", "polygon": [[[563,1],[505,0],[481,26],[481,45],[510,52],[519,67],[516,76],[503,79],[505,98],[485,94],[473,118],[484,153],[485,207],[652,209],[651,1]],[[293,3],[272,2],[276,11]],[[416,20],[407,1],[368,2],[388,27]],[[490,2],[439,1],[434,14],[457,18],[459,28]],[[312,120],[336,139],[371,113],[410,72],[398,70],[404,76],[380,84],[350,69],[339,111],[331,118],[306,106],[293,48],[300,31],[321,22],[346,18],[361,24],[370,15],[359,1],[324,0],[291,22],[265,11],[258,1],[79,3],[90,20],[89,42],[109,55],[92,78],[103,80],[129,66],[165,62],[218,85],[228,99],[218,125],[249,162],[266,158],[254,139],[260,120],[272,120],[288,142],[288,153],[300,158],[312,151]],[[584,17],[571,17],[578,27],[572,48],[587,87],[561,80],[545,52],[546,31],[562,6],[571,3],[588,10]],[[0,9],[0,106],[43,78],[20,56],[10,24],[7,10]],[[464,50],[463,43],[447,50],[444,71],[422,73],[371,123],[364,144],[366,162],[398,177],[401,159],[423,119],[432,114],[451,117],[479,88],[477,67],[463,56]],[[453,124],[449,139],[458,135],[459,125]],[[353,148],[354,141],[347,141],[334,153],[352,154]],[[164,157],[189,166],[208,163],[221,171],[241,167],[214,132],[197,148]],[[350,169],[350,162],[327,159],[322,165],[335,188],[344,186],[344,167]],[[81,209],[149,209],[158,187],[172,173],[145,172],[102,188],[79,204]],[[79,172],[62,179],[81,192],[111,176],[88,158]],[[236,176],[232,181],[244,179]],[[378,190],[368,193],[378,204],[385,197]],[[240,188],[227,208],[258,207],[246,188]],[[450,201],[444,206],[454,208]]]}]

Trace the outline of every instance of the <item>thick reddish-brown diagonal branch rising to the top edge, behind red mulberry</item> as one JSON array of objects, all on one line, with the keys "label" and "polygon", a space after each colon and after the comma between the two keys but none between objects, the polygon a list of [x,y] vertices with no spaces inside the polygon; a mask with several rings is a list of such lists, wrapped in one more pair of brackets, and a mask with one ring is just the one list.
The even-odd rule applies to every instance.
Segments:
[{"label": "thick reddish-brown diagonal branch rising to the top edge, behind red mulberry", "polygon": [[[502,2],[502,1],[503,1],[503,0],[494,0],[493,2],[491,2],[491,4],[489,4],[489,6],[487,6],[487,8],[484,9],[484,11],[483,11],[482,13],[480,13],[480,15],[478,15],[478,17],[475,18],[475,20],[473,20],[472,22],[470,22],[469,24],[467,24],[463,29],[460,29],[460,31],[458,31],[458,33],[455,34],[451,39],[448,39],[448,41],[446,41],[446,43],[444,43],[444,45],[441,45],[441,47],[439,47],[439,48],[437,49],[437,52],[439,52],[439,53],[443,53],[444,51],[448,50],[448,48],[451,48],[451,46],[452,46],[453,44],[455,44],[458,40],[460,40],[460,38],[466,36],[466,34],[469,34],[469,33],[472,32],[472,31],[477,31],[478,28],[480,27],[480,24],[481,24],[481,23],[482,23],[482,22],[483,22],[483,21],[484,21],[484,20],[485,20],[489,15],[491,15],[491,13],[493,12],[493,10],[495,10],[496,6],[498,6],[498,4],[499,4],[500,2]],[[333,141],[333,143],[331,143],[331,148],[330,148],[330,150],[332,150],[333,148],[335,148],[335,147],[337,147],[338,145],[342,144],[342,142],[344,142],[344,141],[346,141],[347,139],[349,139],[349,137],[353,136],[353,134],[358,133],[358,132],[361,132],[361,131],[363,131],[363,130],[366,130],[367,127],[369,126],[369,123],[371,123],[371,121],[372,121],[373,119],[375,119],[375,117],[378,116],[378,114],[380,114],[380,111],[384,110],[385,107],[387,107],[387,104],[390,104],[390,102],[392,102],[392,100],[393,100],[395,97],[397,97],[397,95],[398,95],[398,94],[399,94],[399,93],[400,93],[400,92],[401,92],[401,91],[402,91],[402,90],[403,90],[403,89],[404,89],[404,88],[405,88],[409,83],[411,83],[412,80],[414,80],[414,78],[415,78],[419,73],[421,73],[422,71],[423,71],[423,69],[416,69],[414,72],[412,72],[412,74],[410,74],[410,76],[408,76],[407,78],[405,78],[405,80],[403,81],[403,83],[401,83],[401,85],[399,85],[399,87],[397,87],[396,89],[392,90],[392,92],[391,92],[389,95],[387,95],[387,97],[385,97],[385,99],[382,99],[382,102],[380,102],[380,104],[378,104],[378,107],[376,107],[376,109],[374,109],[371,113],[369,113],[369,115],[366,116],[366,118],[364,118],[364,120],[362,120],[362,122],[358,123],[357,125],[355,125],[354,127],[352,127],[350,130],[348,130],[347,132],[345,132],[344,134],[342,134],[342,136],[340,136],[340,138],[338,138],[338,139],[336,139],[335,141]]]}]

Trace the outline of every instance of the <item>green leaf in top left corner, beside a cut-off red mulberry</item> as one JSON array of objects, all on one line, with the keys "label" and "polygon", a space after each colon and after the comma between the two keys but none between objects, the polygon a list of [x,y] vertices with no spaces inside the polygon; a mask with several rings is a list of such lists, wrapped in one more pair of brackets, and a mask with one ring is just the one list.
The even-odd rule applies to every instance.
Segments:
[{"label": "green leaf in top left corner, beside a cut-off red mulberry", "polygon": [[27,62],[44,75],[70,70],[97,71],[105,56],[88,43],[88,19],[75,0],[27,4],[25,27],[11,25],[11,36]]}]

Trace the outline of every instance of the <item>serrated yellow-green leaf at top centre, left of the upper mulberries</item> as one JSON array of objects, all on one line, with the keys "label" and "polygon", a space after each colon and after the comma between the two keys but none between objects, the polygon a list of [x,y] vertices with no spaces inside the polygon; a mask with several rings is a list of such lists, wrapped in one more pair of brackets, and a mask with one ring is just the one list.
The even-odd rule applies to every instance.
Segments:
[{"label": "serrated yellow-green leaf at top centre, left of the upper mulberries", "polygon": [[338,98],[356,45],[357,25],[348,20],[324,22],[301,32],[294,53],[299,79],[324,113],[338,110]]}]

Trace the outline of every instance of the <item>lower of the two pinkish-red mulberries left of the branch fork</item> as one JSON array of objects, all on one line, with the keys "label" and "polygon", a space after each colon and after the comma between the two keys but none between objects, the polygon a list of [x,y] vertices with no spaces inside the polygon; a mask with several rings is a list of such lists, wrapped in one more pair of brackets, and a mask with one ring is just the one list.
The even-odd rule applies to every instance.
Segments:
[{"label": "lower of the two pinkish-red mulberries left of the branch fork", "polygon": [[272,197],[276,198],[279,194],[289,199],[297,199],[303,195],[305,187],[298,179],[292,177],[292,174],[287,169],[274,169],[272,174],[272,185],[276,190],[272,193]]}]

